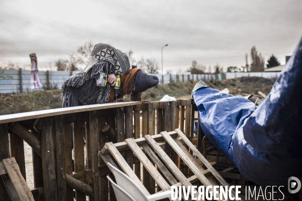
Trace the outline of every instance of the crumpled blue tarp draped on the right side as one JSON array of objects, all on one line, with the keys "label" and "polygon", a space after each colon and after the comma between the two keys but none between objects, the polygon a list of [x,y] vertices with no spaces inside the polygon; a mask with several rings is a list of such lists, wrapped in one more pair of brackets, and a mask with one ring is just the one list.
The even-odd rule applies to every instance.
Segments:
[{"label": "crumpled blue tarp draped on the right side", "polygon": [[285,185],[290,176],[302,177],[302,38],[257,109],[202,81],[192,93],[202,132],[245,178]]}]

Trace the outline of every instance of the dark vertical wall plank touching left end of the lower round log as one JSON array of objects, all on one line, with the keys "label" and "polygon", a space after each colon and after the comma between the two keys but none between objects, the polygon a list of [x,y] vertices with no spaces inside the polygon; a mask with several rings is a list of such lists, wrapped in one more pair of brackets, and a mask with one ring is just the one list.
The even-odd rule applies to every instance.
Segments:
[{"label": "dark vertical wall plank touching left end of the lower round log", "polygon": [[[66,172],[65,172],[65,136],[63,116],[54,117],[55,124],[55,155],[56,155],[56,178],[58,200],[65,201],[66,198]],[[40,187],[40,186],[39,186]]]}]

